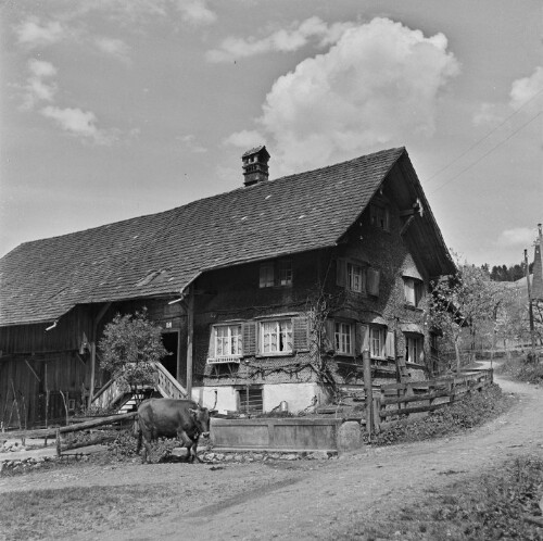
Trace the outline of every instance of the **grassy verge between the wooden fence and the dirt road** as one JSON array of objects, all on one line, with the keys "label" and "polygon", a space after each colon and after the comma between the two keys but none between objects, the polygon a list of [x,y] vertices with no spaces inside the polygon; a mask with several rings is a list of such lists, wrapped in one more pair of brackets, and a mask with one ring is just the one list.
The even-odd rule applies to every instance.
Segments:
[{"label": "grassy verge between the wooden fence and the dirt road", "polygon": [[458,433],[498,417],[513,404],[514,399],[504,395],[500,386],[493,383],[422,418],[399,420],[380,433],[372,435],[371,444],[391,445]]}]

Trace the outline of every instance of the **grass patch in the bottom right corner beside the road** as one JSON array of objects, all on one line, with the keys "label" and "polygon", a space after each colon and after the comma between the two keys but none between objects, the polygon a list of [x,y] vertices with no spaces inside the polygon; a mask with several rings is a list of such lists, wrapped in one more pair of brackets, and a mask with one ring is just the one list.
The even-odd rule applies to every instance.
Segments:
[{"label": "grass patch in the bottom right corner beside the road", "polygon": [[357,521],[333,539],[540,540],[543,528],[526,517],[542,519],[542,495],[543,460],[525,456],[468,481],[450,485],[394,515]]}]

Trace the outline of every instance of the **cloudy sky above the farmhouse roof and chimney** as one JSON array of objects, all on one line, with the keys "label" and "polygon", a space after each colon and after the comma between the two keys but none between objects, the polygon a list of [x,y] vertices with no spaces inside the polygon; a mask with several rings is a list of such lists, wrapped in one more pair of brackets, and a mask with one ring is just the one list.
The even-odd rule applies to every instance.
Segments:
[{"label": "cloudy sky above the farmhouse roof and chimney", "polygon": [[543,222],[541,0],[0,1],[0,256],[405,147],[460,261]]}]

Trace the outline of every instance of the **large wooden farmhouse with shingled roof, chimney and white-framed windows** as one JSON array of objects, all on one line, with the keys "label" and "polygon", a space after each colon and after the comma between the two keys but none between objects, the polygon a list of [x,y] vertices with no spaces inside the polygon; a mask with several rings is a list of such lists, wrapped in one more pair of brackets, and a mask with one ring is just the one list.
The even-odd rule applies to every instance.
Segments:
[{"label": "large wooden farmhouse with shingled roof, chimney and white-framed windows", "polygon": [[404,148],[270,180],[265,147],[227,193],[26,242],[0,266],[0,419],[37,425],[127,397],[97,344],[143,307],[171,353],[156,390],[219,411],[300,411],[374,376],[434,368],[425,300],[455,270]]}]

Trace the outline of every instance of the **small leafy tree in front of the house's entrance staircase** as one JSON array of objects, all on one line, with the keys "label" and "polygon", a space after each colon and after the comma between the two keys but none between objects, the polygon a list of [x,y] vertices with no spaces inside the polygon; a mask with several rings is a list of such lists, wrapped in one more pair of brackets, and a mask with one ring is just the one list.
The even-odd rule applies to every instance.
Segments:
[{"label": "small leafy tree in front of the house's entrance staircase", "polygon": [[150,322],[147,312],[117,314],[105,326],[100,340],[100,366],[132,392],[154,383],[153,363],[168,354],[162,343],[161,328]]}]

